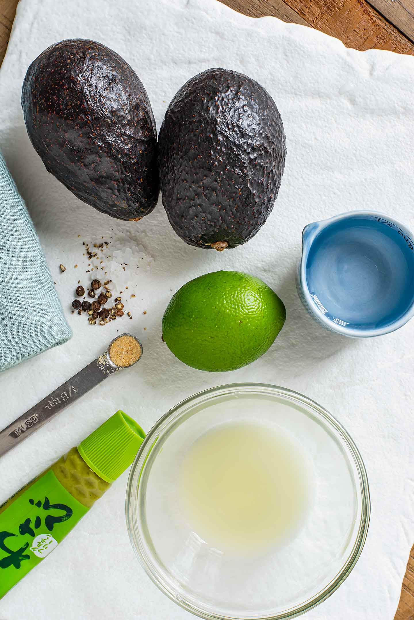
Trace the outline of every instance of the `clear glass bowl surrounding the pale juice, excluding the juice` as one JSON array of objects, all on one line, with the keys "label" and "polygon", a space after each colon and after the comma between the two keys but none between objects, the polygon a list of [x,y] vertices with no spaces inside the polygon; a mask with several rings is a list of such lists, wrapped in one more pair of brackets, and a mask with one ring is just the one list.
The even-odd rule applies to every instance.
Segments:
[{"label": "clear glass bowl surrounding the pale juice, excluding the juice", "polygon": [[[301,526],[257,554],[212,546],[180,507],[180,464],[190,446],[212,428],[240,421],[288,433],[301,445],[312,476]],[[206,619],[276,620],[309,611],[355,566],[369,512],[365,467],[340,423],[302,394],[255,383],[209,389],[165,414],[139,449],[126,495],[131,544],[149,577],[183,609]]]}]

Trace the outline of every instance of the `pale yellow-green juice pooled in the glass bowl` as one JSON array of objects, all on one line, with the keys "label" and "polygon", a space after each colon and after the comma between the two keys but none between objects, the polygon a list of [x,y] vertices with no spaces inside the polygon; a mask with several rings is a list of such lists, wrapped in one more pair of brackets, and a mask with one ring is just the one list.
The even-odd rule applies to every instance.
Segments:
[{"label": "pale yellow-green juice pooled in the glass bowl", "polygon": [[260,422],[224,422],[185,451],[177,499],[211,548],[257,556],[306,521],[312,487],[311,462],[293,435]]}]

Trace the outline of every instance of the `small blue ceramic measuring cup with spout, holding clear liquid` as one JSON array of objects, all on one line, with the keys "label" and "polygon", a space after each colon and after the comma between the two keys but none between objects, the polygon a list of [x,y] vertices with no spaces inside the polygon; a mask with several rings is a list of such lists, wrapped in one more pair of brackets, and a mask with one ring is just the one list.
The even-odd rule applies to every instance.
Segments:
[{"label": "small blue ceramic measuring cup with spout, holding clear liquid", "polygon": [[375,211],[350,211],[302,232],[297,291],[309,314],[338,334],[388,334],[414,316],[414,241]]}]

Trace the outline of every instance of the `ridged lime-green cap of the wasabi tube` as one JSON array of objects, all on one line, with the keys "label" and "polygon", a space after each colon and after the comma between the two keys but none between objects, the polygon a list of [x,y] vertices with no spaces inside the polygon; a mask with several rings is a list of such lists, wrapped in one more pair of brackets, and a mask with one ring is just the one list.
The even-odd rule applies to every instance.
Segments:
[{"label": "ridged lime-green cap of the wasabi tube", "polygon": [[77,449],[97,476],[112,483],[131,465],[144,437],[143,429],[135,420],[117,411]]}]

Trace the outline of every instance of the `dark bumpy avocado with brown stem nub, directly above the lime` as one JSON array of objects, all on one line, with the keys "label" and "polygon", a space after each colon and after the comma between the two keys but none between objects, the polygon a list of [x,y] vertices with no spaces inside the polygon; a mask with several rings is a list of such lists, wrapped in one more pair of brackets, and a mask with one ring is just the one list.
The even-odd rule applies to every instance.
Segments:
[{"label": "dark bumpy avocado with brown stem nub, directly above the lime", "polygon": [[185,242],[224,250],[249,241],[276,200],[283,123],[258,82],[208,69],[172,99],[158,136],[162,202]]}]

